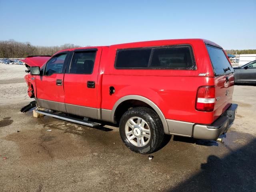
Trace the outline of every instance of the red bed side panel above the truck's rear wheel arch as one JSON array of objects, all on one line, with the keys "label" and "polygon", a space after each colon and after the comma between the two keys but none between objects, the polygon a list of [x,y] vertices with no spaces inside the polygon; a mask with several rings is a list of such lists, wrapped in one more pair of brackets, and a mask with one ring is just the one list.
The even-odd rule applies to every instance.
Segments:
[{"label": "red bed side panel above the truck's rear wheel arch", "polygon": [[[118,99],[139,95],[154,102],[166,119],[210,124],[213,121],[212,112],[195,110],[196,92],[202,84],[214,85],[214,78],[105,75],[102,108],[112,110]],[[114,86],[116,90],[112,95],[109,94],[109,86]]]}]

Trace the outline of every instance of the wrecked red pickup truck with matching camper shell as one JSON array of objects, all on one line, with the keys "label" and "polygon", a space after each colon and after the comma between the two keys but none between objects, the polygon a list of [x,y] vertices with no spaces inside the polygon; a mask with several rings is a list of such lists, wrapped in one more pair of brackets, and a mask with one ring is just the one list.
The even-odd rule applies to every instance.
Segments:
[{"label": "wrecked red pickup truck with matching camper shell", "polygon": [[217,140],[235,118],[234,70],[208,40],[72,48],[23,61],[37,113],[116,123],[126,146],[142,154],[160,148],[165,134]]}]

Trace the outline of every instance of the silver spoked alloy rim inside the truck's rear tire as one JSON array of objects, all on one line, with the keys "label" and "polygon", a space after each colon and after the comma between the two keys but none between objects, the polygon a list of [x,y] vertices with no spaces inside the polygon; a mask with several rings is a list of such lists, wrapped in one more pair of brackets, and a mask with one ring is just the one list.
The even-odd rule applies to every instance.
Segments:
[{"label": "silver spoked alloy rim inside the truck's rear tire", "polygon": [[126,138],[136,147],[143,147],[150,140],[150,128],[140,117],[132,117],[125,124]]}]

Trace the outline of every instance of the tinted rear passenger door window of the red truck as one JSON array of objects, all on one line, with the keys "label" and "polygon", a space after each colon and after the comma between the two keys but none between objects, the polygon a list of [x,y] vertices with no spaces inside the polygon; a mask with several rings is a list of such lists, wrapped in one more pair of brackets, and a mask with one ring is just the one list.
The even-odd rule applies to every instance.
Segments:
[{"label": "tinted rear passenger door window of the red truck", "polygon": [[92,74],[96,51],[79,51],[74,52],[70,73],[75,74]]}]

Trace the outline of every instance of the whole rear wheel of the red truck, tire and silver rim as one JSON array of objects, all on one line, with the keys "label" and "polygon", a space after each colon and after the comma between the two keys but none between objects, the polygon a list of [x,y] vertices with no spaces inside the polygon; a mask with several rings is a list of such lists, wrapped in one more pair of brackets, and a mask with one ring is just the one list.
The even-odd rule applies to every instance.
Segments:
[{"label": "whole rear wheel of the red truck, tire and silver rim", "polygon": [[125,112],[120,120],[119,131],[124,144],[141,154],[154,152],[164,140],[164,128],[158,114],[146,107],[136,107]]}]

